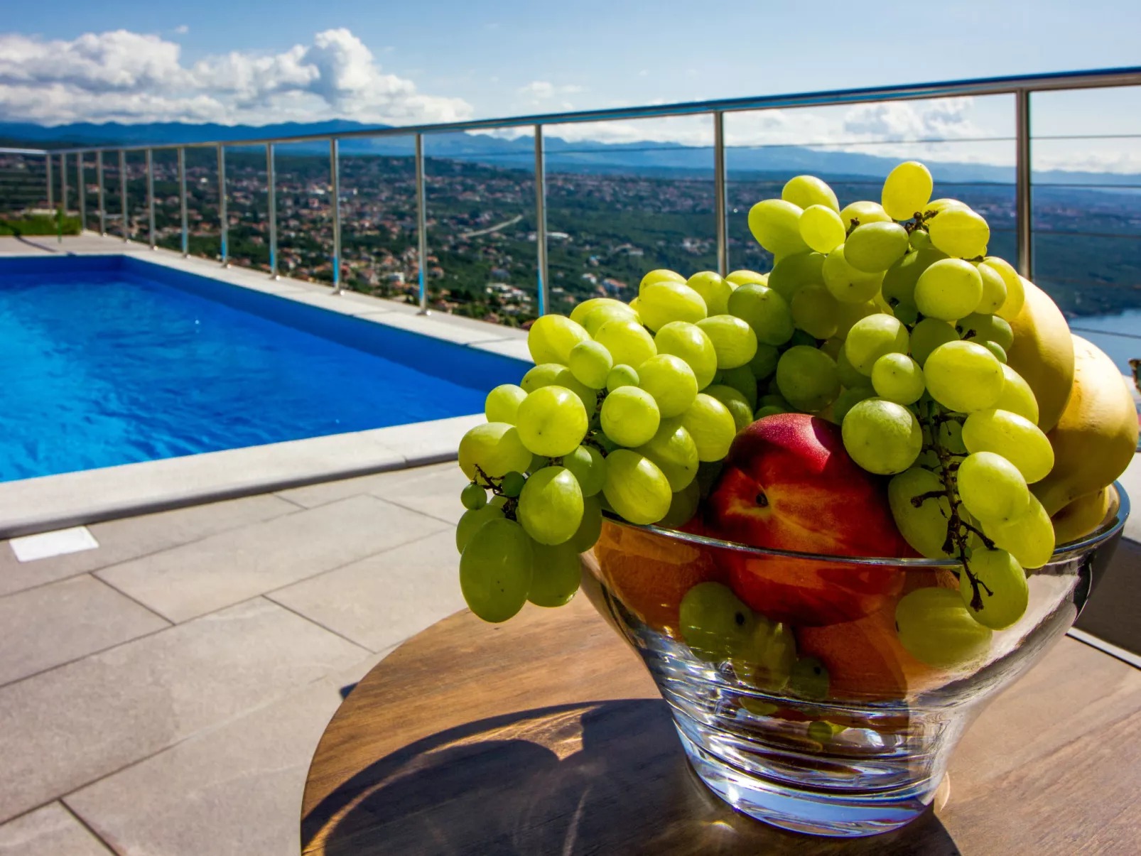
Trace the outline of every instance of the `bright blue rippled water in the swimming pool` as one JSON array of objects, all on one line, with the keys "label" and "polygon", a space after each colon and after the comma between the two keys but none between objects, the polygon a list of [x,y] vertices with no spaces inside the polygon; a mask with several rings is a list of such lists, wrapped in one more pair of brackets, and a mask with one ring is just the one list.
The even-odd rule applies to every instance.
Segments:
[{"label": "bright blue rippled water in the swimming pool", "polygon": [[524,369],[131,258],[0,260],[0,481],[478,413]]}]

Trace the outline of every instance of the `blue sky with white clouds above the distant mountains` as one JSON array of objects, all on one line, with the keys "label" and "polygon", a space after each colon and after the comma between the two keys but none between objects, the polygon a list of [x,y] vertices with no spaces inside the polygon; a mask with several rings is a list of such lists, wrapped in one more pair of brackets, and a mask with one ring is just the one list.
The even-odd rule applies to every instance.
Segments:
[{"label": "blue sky with white clouds above the distant mountains", "polygon": [[[0,121],[385,124],[1141,65],[1135,0],[920,5],[104,0],[10,5]],[[1141,134],[1141,88],[1037,96],[1036,135]],[[1006,96],[727,119],[730,144],[948,139],[1008,163]],[[563,126],[565,138],[703,144],[707,119]],[[1141,140],[1049,142],[1038,168],[1141,171]],[[898,153],[905,147],[900,146]]]}]

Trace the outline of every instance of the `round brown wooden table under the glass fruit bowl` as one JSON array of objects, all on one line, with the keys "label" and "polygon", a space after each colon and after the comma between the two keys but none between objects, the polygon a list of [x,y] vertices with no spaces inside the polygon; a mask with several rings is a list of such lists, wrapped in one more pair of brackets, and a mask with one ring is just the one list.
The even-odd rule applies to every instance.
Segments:
[{"label": "round brown wooden table under the glass fruit bowl", "polygon": [[305,854],[1136,854],[1141,672],[1073,639],[979,718],[950,799],[869,839],[736,814],[690,770],[638,655],[585,597],[510,622],[456,613],[329,724]]}]

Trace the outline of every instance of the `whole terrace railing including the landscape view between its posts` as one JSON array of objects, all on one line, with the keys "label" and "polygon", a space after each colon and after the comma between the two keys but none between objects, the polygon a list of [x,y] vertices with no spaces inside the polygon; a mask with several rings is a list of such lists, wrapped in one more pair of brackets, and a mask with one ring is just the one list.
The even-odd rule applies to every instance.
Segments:
[{"label": "whole terrace railing including the landscape view between its posts", "polygon": [[225,146],[0,150],[0,217],[63,207],[90,231],[518,325],[629,300],[652,267],[768,270],[747,227],[758,200],[803,172],[841,204],[879,199],[901,160],[984,213],[990,252],[1123,371],[1141,355],[1141,68]]}]

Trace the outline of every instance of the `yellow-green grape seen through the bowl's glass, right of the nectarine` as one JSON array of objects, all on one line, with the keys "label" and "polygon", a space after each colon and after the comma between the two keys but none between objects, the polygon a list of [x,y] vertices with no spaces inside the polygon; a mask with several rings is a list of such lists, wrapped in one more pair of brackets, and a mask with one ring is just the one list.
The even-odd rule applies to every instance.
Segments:
[{"label": "yellow-green grape seen through the bowl's glass, right of the nectarine", "polygon": [[900,644],[921,663],[954,669],[986,656],[994,631],[971,617],[954,589],[915,589],[896,605]]}]

